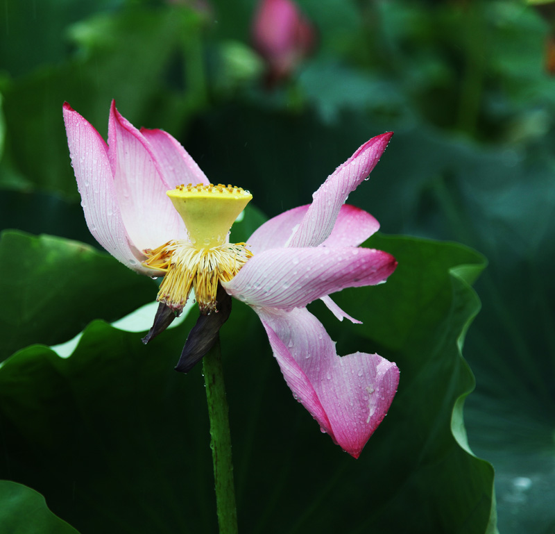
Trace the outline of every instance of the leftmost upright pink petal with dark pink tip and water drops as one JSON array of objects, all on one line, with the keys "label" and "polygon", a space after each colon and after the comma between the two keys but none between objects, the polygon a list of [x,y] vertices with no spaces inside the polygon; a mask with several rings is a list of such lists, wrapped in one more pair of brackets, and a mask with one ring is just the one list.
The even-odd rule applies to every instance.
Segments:
[{"label": "leftmost upright pink petal with dark pink tip and water drops", "polygon": [[66,102],[64,122],[85,221],[94,239],[114,258],[137,272],[155,276],[141,265],[146,259],[129,239],[114,191],[108,147],[96,129]]}]

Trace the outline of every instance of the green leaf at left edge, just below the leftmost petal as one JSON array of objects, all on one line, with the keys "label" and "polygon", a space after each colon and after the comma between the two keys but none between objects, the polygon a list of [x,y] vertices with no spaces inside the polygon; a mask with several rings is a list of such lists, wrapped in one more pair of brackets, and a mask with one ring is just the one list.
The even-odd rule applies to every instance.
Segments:
[{"label": "green leaf at left edge, just below the leftmost petal", "polygon": [[61,237],[0,237],[0,360],[32,343],[56,344],[95,317],[115,320],[155,298],[156,286],[107,253]]}]

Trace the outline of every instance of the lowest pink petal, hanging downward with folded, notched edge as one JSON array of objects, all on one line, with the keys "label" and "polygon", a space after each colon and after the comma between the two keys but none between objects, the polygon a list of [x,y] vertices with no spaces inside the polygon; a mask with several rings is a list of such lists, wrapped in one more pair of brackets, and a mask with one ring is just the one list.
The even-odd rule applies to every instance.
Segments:
[{"label": "lowest pink petal, hanging downward with folded, notched edge", "polygon": [[325,328],[305,308],[255,311],[293,397],[336,444],[358,458],[391,406],[398,367],[377,354],[338,356]]}]

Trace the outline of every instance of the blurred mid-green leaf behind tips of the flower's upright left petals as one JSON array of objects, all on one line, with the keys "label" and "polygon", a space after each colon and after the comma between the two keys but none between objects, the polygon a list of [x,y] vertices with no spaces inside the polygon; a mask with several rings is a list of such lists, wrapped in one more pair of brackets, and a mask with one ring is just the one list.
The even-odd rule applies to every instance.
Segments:
[{"label": "blurred mid-green leaf behind tips of the flower's upright left petals", "polygon": [[[112,99],[137,127],[175,133],[187,112],[203,105],[199,26],[198,15],[185,7],[122,10],[71,26],[74,58],[5,84],[9,143],[0,183],[77,198],[62,120],[64,101],[104,138]],[[181,53],[189,54],[187,62],[180,62]],[[186,90],[173,79],[182,76],[182,65]]]}]

